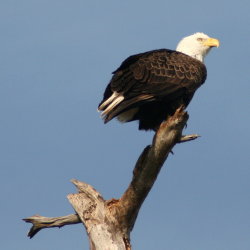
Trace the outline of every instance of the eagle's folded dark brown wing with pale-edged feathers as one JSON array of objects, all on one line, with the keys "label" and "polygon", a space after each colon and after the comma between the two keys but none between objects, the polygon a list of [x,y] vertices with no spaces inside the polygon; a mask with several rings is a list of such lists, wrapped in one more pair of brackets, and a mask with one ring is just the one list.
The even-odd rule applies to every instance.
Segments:
[{"label": "eagle's folded dark brown wing with pale-edged feathers", "polygon": [[193,95],[206,79],[206,67],[190,56],[161,49],[130,56],[113,74],[99,109],[105,111],[110,103],[106,106],[103,103],[113,93],[120,102],[105,113],[106,122],[146,102],[171,101],[183,93]]}]

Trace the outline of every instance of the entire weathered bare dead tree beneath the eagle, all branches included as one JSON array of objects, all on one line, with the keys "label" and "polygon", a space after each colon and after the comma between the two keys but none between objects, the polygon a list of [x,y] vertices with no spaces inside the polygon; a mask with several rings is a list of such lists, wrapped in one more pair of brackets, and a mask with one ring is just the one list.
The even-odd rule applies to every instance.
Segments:
[{"label": "entire weathered bare dead tree beneath the eagle, all branches included", "polygon": [[140,155],[132,181],[120,199],[105,200],[92,186],[72,180],[77,194],[69,194],[68,200],[76,214],[47,218],[35,215],[24,219],[33,226],[28,236],[49,227],[62,227],[82,222],[87,230],[90,249],[129,250],[130,232],[140,207],[151,190],[168,154],[176,143],[194,140],[198,135],[182,136],[188,114],[181,107],[164,121],[156,131],[152,145]]}]

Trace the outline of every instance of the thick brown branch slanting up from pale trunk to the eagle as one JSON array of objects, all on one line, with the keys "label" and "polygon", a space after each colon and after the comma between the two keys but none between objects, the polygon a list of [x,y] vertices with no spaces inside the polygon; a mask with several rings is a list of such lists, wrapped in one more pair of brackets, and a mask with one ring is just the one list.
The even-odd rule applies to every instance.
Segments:
[{"label": "thick brown branch slanting up from pale trunk to the eagle", "polygon": [[[125,228],[132,230],[139,209],[151,190],[168,154],[180,141],[188,114],[179,108],[174,116],[164,121],[157,130],[153,143],[147,146],[139,157],[133,171],[133,179],[117,206],[118,218]],[[121,222],[121,223],[122,223]]]}]

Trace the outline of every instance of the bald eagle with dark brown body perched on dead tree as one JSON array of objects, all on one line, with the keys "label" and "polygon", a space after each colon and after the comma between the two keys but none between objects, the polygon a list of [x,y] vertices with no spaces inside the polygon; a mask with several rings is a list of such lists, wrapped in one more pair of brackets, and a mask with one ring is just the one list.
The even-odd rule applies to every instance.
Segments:
[{"label": "bald eagle with dark brown body perched on dead tree", "polygon": [[176,51],[152,50],[128,57],[113,72],[99,104],[104,122],[139,120],[156,130],[180,105],[185,107],[207,76],[204,57],[219,41],[204,33],[183,38]]}]

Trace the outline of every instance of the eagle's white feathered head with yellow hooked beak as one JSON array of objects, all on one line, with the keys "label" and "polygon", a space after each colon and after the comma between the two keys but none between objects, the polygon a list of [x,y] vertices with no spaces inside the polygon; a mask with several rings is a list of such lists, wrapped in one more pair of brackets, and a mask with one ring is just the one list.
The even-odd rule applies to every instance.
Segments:
[{"label": "eagle's white feathered head with yellow hooked beak", "polygon": [[219,47],[220,42],[215,38],[198,32],[184,37],[177,45],[176,50],[203,62],[212,47]]}]

